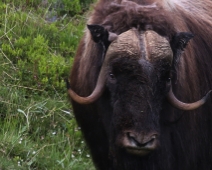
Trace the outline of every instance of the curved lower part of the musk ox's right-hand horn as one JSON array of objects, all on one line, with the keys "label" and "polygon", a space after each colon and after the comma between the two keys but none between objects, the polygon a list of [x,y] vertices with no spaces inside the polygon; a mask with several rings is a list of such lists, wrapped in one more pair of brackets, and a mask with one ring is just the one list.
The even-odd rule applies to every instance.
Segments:
[{"label": "curved lower part of the musk ox's right-hand horn", "polygon": [[210,93],[212,90],[210,90],[202,99],[194,102],[194,103],[183,103],[181,101],[179,101],[173,91],[172,91],[172,87],[170,86],[170,90],[169,93],[167,94],[167,99],[168,101],[172,104],[172,106],[181,109],[181,110],[194,110],[199,108],[200,106],[202,106],[208,99]]}]

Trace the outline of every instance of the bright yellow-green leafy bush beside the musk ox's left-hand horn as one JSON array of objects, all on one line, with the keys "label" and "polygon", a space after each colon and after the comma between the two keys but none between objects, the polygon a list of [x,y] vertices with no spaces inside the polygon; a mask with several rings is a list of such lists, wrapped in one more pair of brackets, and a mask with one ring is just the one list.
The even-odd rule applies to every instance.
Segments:
[{"label": "bright yellow-green leafy bush beside the musk ox's left-hand horn", "polygon": [[61,91],[64,89],[63,78],[70,67],[62,56],[49,53],[48,48],[48,41],[41,35],[34,38],[20,37],[14,42],[13,49],[10,44],[2,44],[4,54],[18,68],[16,78],[23,86],[44,90],[54,86]]}]

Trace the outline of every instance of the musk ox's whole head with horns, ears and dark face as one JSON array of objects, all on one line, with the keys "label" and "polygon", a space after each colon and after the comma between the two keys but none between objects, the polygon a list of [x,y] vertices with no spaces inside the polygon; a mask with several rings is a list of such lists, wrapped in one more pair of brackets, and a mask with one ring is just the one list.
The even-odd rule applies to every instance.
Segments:
[{"label": "musk ox's whole head with horns, ears and dark face", "polygon": [[179,109],[200,107],[206,97],[182,103],[171,88],[171,71],[191,33],[179,33],[172,42],[152,30],[130,29],[120,35],[98,25],[88,26],[93,40],[105,49],[97,84],[88,97],[80,97],[68,86],[71,98],[80,104],[95,102],[105,88],[112,106],[111,140],[130,154],[146,155],[159,145],[159,113],[168,101]]}]

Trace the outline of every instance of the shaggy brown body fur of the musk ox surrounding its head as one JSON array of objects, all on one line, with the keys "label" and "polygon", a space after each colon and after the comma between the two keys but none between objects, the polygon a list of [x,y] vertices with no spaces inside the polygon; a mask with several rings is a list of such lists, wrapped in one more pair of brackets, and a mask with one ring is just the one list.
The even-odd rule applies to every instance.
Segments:
[{"label": "shaggy brown body fur of the musk ox surrounding its head", "polygon": [[[212,89],[212,1],[211,0],[100,0],[88,24],[104,26],[120,34],[132,27],[153,29],[170,41],[178,32],[191,32],[194,39],[180,58],[173,79],[173,91],[183,102],[193,102]],[[102,65],[102,46],[92,41],[86,29],[79,45],[72,73],[71,87],[79,95],[89,95]],[[105,92],[104,96],[107,95]],[[113,169],[108,157],[109,141],[104,128],[108,101],[81,106],[73,103],[76,119],[97,169]],[[104,105],[104,106],[103,106]],[[107,110],[107,109],[105,109]],[[106,112],[106,111],[105,111]],[[174,124],[166,124],[183,117]],[[161,111],[161,147],[147,158],[121,158],[122,168],[137,170],[211,170],[212,169],[212,101],[184,113],[165,102]],[[117,169],[117,168],[116,168]]]}]

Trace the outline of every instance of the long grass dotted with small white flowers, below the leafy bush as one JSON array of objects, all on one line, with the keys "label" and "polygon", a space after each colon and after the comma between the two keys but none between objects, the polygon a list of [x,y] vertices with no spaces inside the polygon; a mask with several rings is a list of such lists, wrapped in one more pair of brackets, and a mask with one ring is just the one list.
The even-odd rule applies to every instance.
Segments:
[{"label": "long grass dotted with small white flowers, below the leafy bush", "polygon": [[86,169],[91,163],[67,103],[29,99],[14,87],[1,87],[0,96],[0,169]]}]

